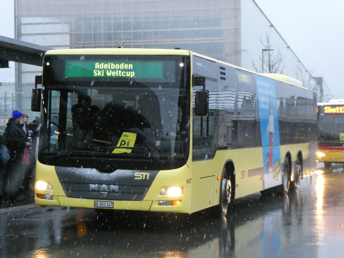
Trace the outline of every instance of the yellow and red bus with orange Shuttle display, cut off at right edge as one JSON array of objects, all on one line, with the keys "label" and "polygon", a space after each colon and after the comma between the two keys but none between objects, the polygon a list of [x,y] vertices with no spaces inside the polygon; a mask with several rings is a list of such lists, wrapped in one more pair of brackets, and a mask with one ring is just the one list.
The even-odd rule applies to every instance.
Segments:
[{"label": "yellow and red bus with orange Shuttle display, cut off at right edge", "polygon": [[318,162],[344,164],[344,99],[318,103]]}]

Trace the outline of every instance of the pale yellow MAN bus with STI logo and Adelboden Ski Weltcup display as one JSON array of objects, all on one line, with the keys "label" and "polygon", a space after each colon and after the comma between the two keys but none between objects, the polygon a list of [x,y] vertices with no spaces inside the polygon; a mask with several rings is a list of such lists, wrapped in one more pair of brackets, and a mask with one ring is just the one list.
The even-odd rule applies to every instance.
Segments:
[{"label": "pale yellow MAN bus with STI logo and Adelboden Ski Weltcup display", "polygon": [[224,217],[231,200],[287,194],[316,170],[316,94],[296,79],[187,50],[43,62],[37,205]]}]

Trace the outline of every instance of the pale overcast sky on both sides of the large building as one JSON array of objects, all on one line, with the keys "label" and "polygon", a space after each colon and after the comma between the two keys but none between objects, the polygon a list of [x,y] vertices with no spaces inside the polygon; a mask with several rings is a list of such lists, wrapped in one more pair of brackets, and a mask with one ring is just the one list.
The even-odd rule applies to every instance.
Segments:
[{"label": "pale overcast sky on both sides of the large building", "polygon": [[[344,0],[255,1],[308,71],[324,78],[334,98],[344,98]],[[13,0],[0,0],[0,9],[0,35],[13,37]],[[13,75],[14,69],[0,69],[2,82]]]}]

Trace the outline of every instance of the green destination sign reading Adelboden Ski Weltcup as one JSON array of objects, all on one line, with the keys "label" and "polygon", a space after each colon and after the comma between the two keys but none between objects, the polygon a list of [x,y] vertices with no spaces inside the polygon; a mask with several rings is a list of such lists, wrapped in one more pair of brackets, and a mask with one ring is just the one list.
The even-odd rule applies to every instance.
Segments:
[{"label": "green destination sign reading Adelboden Ski Weltcup", "polygon": [[65,77],[163,78],[163,62],[148,61],[68,61]]}]

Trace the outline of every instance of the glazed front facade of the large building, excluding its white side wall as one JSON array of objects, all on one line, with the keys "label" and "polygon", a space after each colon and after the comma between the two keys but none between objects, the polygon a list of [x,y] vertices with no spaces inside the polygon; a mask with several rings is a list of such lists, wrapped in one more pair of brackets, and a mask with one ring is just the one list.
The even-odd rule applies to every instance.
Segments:
[{"label": "glazed front facade of the large building, excluding its white side wall", "polygon": [[[18,39],[54,49],[178,47],[241,64],[240,0],[17,0],[17,15]],[[24,66],[18,82],[33,78]]]}]

